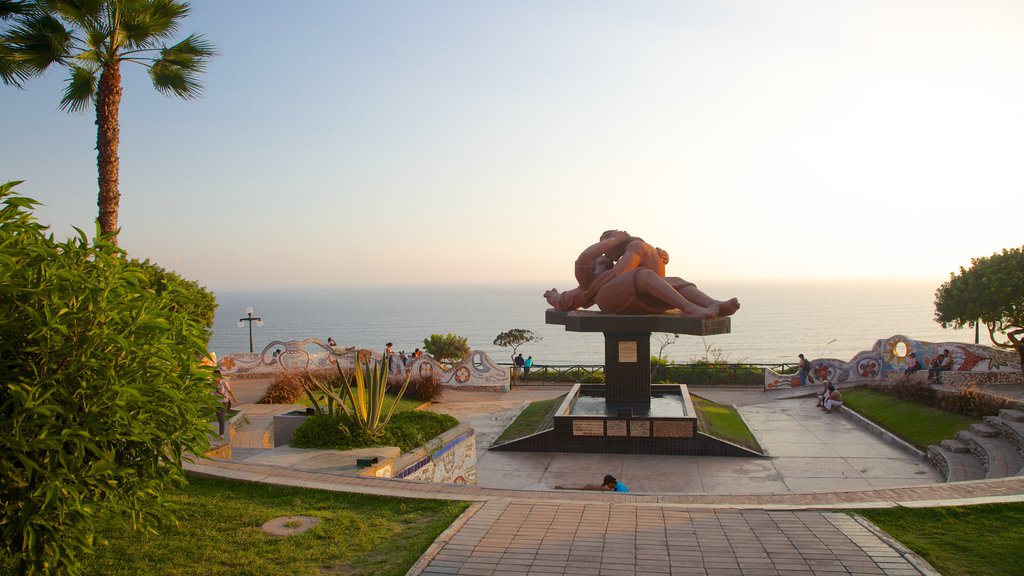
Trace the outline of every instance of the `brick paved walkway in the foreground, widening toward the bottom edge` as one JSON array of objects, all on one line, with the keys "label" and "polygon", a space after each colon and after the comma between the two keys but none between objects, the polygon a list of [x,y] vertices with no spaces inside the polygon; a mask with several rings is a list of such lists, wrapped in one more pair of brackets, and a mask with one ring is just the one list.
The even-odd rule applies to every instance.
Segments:
[{"label": "brick paved walkway in the foreground, widening toward the bottom edge", "polygon": [[411,574],[936,574],[840,512],[493,500],[466,516]]}]

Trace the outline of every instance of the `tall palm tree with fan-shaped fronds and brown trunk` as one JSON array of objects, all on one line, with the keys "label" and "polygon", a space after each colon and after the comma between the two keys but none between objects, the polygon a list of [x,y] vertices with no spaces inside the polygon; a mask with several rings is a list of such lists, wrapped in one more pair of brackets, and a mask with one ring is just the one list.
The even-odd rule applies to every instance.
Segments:
[{"label": "tall palm tree with fan-shaped fronds and brown trunk", "polygon": [[60,109],[80,113],[95,105],[99,228],[117,242],[121,108],[121,63],[148,69],[154,87],[193,98],[197,76],[214,55],[213,45],[193,34],[173,46],[188,15],[175,0],[0,0],[0,79],[22,87],[51,66],[71,77]]}]

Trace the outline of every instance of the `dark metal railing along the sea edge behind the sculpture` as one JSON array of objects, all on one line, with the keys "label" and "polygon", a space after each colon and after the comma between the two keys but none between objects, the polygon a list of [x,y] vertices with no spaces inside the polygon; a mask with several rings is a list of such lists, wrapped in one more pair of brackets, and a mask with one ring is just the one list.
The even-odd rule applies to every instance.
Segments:
[{"label": "dark metal railing along the sea edge behind the sculpture", "polygon": [[[511,363],[501,363],[511,367]],[[764,386],[765,368],[780,374],[796,373],[797,365],[777,364],[663,364],[651,366],[653,382],[671,382],[691,386]],[[520,371],[521,373],[521,371]],[[529,382],[583,382],[603,383],[603,364],[535,364],[529,376],[520,375],[519,381]]]}]

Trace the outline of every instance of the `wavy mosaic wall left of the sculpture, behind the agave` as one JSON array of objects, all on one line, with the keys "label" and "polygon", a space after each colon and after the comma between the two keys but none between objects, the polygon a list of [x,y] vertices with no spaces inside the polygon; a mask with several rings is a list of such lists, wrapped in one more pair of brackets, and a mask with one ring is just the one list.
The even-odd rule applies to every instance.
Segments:
[{"label": "wavy mosaic wall left of the sculpture, behind the agave", "polygon": [[[274,352],[280,351],[278,356]],[[269,376],[285,370],[312,370],[340,364],[343,368],[355,365],[355,347],[330,346],[316,339],[274,340],[259,353],[233,353],[220,359],[220,369],[231,376]],[[381,359],[381,354],[360,349],[360,361]],[[413,374],[434,374],[445,385],[464,389],[493,392],[509,390],[509,370],[495,364],[486,353],[473,351],[461,363],[445,368],[426,355],[409,365]]]}]

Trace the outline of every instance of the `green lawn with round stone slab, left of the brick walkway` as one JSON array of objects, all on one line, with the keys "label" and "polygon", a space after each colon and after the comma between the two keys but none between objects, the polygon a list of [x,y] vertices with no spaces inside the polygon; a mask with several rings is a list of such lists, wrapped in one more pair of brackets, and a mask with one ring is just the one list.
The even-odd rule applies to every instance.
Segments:
[{"label": "green lawn with round stone slab, left of the brick walkway", "polygon": [[[157,534],[109,522],[83,574],[166,576],[404,574],[468,506],[302,488],[190,478],[170,499],[179,525]],[[260,530],[283,516],[321,523],[295,536]]]}]

